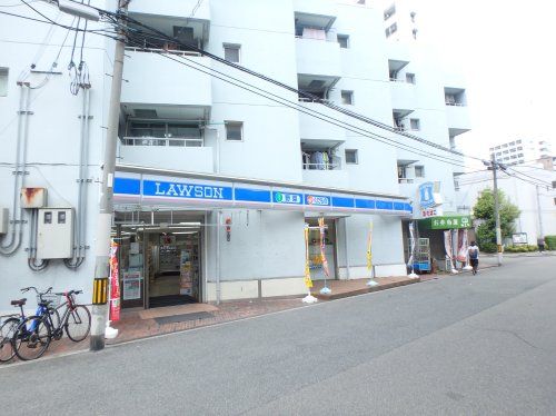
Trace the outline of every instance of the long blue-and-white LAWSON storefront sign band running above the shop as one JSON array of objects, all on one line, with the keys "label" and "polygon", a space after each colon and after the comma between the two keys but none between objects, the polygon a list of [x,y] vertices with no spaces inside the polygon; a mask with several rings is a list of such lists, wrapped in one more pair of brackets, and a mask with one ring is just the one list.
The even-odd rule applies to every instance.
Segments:
[{"label": "long blue-and-white LAWSON storefront sign band running above the shop", "polygon": [[171,205],[183,207],[234,207],[321,212],[361,212],[410,216],[411,205],[403,197],[370,197],[334,190],[282,188],[249,182],[155,177],[117,172],[117,204]]}]

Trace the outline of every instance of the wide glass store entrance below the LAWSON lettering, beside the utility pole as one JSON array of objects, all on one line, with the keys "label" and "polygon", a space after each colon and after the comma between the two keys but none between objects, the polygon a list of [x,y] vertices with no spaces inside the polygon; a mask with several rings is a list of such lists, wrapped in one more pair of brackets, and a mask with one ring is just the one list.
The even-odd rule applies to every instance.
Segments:
[{"label": "wide glass store entrance below the LAWSON lettering, beside the utility pole", "polygon": [[[202,217],[179,211],[147,214],[151,224],[136,222],[137,218],[149,219],[143,212],[131,221],[117,212],[121,222],[112,229],[118,242],[122,308],[202,301]],[[157,217],[160,222],[156,222]]]}]

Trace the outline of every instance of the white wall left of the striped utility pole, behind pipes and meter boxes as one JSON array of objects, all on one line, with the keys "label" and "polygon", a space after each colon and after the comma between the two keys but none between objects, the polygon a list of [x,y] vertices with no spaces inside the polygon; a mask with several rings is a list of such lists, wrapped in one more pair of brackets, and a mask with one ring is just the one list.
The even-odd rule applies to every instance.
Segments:
[{"label": "white wall left of the striped utility pole, behind pipes and meter boxes", "polygon": [[[93,1],[93,6],[106,8],[105,1]],[[53,18],[57,12],[52,7],[37,3],[33,4],[47,16]],[[10,9],[18,14],[29,14],[30,11],[21,8]],[[36,18],[36,14],[32,14]],[[71,17],[61,17],[58,20],[62,24],[70,24]],[[73,97],[69,92],[70,78],[67,67],[70,61],[71,47],[67,42],[60,48],[66,30],[56,29],[50,39],[50,44],[42,49],[50,26],[17,18],[0,16],[0,66],[10,70],[9,90],[7,97],[0,97],[0,207],[10,207],[13,190],[13,166],[18,121],[17,110],[19,106],[19,87],[16,81],[28,70],[34,61],[37,70],[48,70],[61,49],[58,70],[62,73],[52,75],[43,87],[31,91],[32,116],[29,117],[28,139],[28,168],[26,187],[44,187],[48,189],[48,205],[50,207],[76,207],[78,198],[78,161],[80,140],[80,119],[82,108],[82,92]],[[95,24],[89,26],[90,29]],[[110,41],[111,42],[111,41]],[[39,53],[38,53],[39,52]],[[79,49],[76,52],[79,59]],[[23,225],[23,241],[19,250],[11,257],[0,257],[0,314],[10,311],[9,300],[22,297],[19,288],[24,286],[37,286],[47,288],[53,286],[54,290],[83,289],[80,296],[83,303],[91,300],[91,287],[93,277],[93,247],[95,247],[95,222],[98,210],[100,160],[103,150],[107,109],[107,86],[111,78],[105,73],[110,72],[107,53],[111,52],[111,46],[106,38],[88,34],[83,58],[89,66],[91,82],[91,110],[90,121],[90,146],[89,146],[89,174],[92,182],[87,185],[87,229],[86,242],[91,248],[87,250],[87,260],[78,271],[69,270],[60,260],[52,260],[47,270],[42,273],[31,271],[27,266],[27,252],[29,247],[29,222]],[[79,62],[76,62],[79,63]],[[30,75],[24,79],[31,86],[37,87],[44,80],[44,75]],[[26,212],[24,220],[29,220]],[[6,240],[4,240],[6,241]],[[27,294],[29,308],[34,308],[34,297]]]}]

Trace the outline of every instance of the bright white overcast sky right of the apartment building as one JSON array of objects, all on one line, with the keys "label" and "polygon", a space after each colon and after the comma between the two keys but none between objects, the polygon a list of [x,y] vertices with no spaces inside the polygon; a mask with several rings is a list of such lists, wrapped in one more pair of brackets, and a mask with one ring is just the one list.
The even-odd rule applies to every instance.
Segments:
[{"label": "bright white overcast sky right of the apartment building", "polygon": [[420,41],[458,61],[467,81],[473,131],[458,145],[486,156],[506,139],[555,143],[556,1],[414,1]]}]

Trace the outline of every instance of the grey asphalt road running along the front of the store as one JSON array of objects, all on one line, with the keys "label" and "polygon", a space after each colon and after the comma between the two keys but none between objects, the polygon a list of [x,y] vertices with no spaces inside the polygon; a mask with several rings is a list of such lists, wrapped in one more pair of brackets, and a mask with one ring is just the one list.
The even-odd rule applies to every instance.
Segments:
[{"label": "grey asphalt road running along the front of the store", "polygon": [[1,413],[555,415],[556,258],[0,368]]}]

